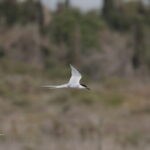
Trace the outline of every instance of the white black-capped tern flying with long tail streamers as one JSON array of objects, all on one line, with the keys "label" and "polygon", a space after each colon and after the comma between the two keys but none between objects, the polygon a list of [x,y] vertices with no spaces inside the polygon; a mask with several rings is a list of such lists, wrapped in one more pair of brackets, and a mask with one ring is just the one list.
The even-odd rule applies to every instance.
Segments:
[{"label": "white black-capped tern flying with long tail streamers", "polygon": [[86,85],[80,83],[80,80],[82,78],[80,72],[77,69],[75,69],[72,65],[70,65],[70,68],[71,68],[71,78],[68,83],[62,85],[56,85],[56,86],[45,85],[42,87],[54,88],[54,89],[55,88],[76,88],[76,89],[90,90]]}]

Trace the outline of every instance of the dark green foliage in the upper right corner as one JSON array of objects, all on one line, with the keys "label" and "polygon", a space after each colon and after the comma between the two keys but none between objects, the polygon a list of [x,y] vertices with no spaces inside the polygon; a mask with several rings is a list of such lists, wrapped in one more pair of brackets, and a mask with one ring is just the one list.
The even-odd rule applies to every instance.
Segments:
[{"label": "dark green foliage in the upper right corner", "polygon": [[[109,1],[108,1],[109,2]],[[116,30],[126,31],[131,29],[138,22],[148,24],[149,11],[144,8],[141,2],[128,2],[122,6],[116,5],[117,2],[110,1],[103,10],[103,16],[111,27]]]}]

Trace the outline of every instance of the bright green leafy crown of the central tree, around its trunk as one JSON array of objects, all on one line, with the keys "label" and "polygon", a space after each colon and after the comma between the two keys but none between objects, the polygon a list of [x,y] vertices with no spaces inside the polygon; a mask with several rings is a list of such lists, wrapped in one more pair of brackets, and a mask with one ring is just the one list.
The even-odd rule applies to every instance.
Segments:
[{"label": "bright green leafy crown of the central tree, around its trunk", "polygon": [[75,32],[78,28],[82,48],[98,47],[99,31],[103,21],[96,13],[82,14],[76,9],[63,9],[61,13],[53,15],[50,25],[51,37],[54,42],[64,42],[70,46],[74,43]]}]

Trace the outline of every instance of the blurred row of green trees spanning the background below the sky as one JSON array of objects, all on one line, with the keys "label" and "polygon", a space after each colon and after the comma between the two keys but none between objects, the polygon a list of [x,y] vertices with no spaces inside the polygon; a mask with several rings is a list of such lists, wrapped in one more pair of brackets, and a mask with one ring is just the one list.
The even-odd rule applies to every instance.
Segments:
[{"label": "blurred row of green trees spanning the background below the sky", "polygon": [[[139,69],[150,68],[150,6],[141,1],[126,3],[117,0],[104,1],[103,9],[82,13],[72,8],[69,1],[59,3],[55,12],[45,15],[46,8],[40,0],[2,0],[0,2],[0,26],[14,27],[32,24],[39,26],[41,36],[48,38],[50,45],[40,47],[44,63],[48,68],[57,61],[62,64],[80,63],[86,57],[98,51],[101,53],[101,36],[103,30],[111,30],[132,36],[131,65]],[[51,19],[50,19],[51,18]],[[49,20],[45,23],[45,20]],[[119,39],[118,39],[119,40]],[[96,50],[96,51],[95,51]],[[0,46],[0,58],[5,56],[5,49]],[[32,51],[32,50],[31,50]],[[55,52],[54,52],[55,51]],[[56,56],[57,55],[57,56]]]}]

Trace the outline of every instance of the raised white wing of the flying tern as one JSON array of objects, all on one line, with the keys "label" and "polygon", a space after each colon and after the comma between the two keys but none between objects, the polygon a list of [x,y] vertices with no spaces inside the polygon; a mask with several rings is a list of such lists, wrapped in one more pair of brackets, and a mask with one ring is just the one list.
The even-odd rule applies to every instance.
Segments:
[{"label": "raised white wing of the flying tern", "polygon": [[79,84],[80,82],[80,79],[82,78],[80,72],[75,69],[72,65],[70,65],[71,67],[71,78],[69,80],[69,84]]}]

